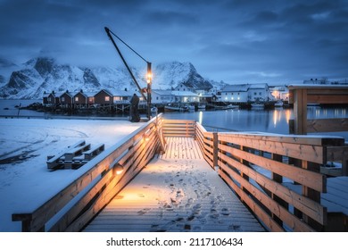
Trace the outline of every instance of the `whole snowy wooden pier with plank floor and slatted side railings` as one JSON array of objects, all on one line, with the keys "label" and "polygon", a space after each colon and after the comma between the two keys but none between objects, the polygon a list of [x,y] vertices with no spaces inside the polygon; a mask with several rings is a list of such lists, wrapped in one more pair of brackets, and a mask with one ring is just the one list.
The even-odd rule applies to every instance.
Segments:
[{"label": "whole snowy wooden pier with plank floor and slatted side railings", "polygon": [[331,214],[325,194],[338,185],[320,173],[340,150],[342,137],[209,132],[159,115],[12,221],[23,231],[347,230],[346,196]]}]

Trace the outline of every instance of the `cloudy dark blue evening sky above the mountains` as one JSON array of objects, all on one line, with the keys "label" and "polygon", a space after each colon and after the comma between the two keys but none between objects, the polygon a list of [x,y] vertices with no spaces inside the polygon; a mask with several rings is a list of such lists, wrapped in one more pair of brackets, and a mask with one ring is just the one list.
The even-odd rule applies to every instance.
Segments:
[{"label": "cloudy dark blue evening sky above the mountains", "polygon": [[346,0],[0,0],[0,20],[0,57],[14,63],[124,67],[107,26],[154,66],[190,62],[230,84],[348,78]]}]

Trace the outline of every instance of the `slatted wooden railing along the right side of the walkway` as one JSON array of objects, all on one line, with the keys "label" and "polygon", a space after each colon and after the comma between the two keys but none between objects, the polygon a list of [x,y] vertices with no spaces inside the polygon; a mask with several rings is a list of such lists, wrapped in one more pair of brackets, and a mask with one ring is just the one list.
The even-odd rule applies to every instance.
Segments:
[{"label": "slatted wooden railing along the right side of the walkway", "polygon": [[344,138],[212,133],[196,125],[204,158],[271,231],[321,231],[327,148]]}]

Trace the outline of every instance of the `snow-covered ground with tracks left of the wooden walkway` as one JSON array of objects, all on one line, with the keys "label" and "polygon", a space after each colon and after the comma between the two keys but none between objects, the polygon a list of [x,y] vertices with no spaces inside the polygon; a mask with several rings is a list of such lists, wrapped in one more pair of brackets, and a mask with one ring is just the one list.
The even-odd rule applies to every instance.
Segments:
[{"label": "snow-covered ground with tracks left of the wooden walkway", "polygon": [[105,149],[143,122],[111,120],[0,119],[0,231],[21,231],[13,212],[44,203],[81,174],[79,170],[49,171],[47,155],[84,139]]}]

